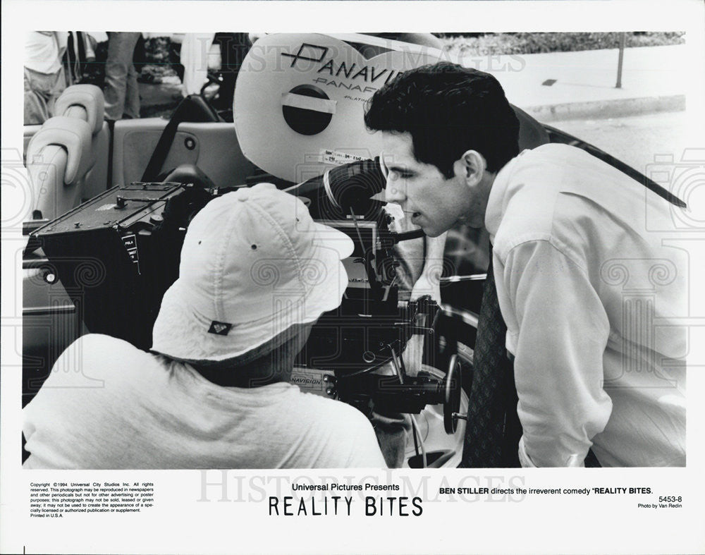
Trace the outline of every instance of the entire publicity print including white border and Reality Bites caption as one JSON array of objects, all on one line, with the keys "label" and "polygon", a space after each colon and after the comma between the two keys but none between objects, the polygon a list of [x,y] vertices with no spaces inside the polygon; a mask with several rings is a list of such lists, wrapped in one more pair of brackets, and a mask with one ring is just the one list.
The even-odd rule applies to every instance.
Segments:
[{"label": "entire publicity print including white border and Reality Bites caption", "polygon": [[[540,30],[23,22],[1,408],[24,530],[141,528],[171,503],[217,522],[250,506],[281,530],[374,516],[374,537],[380,517],[409,533],[483,507],[560,521],[581,498],[591,519],[685,530],[705,494],[702,37],[627,13]],[[340,552],[705,549],[657,527],[651,547],[482,536]]]}]

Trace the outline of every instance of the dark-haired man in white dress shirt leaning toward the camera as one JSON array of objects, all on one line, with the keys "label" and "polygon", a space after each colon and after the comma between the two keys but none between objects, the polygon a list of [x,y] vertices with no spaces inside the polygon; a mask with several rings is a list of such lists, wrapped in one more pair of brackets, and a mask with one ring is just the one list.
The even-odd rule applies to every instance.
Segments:
[{"label": "dark-haired man in white dress shirt leaning toward the camera", "polygon": [[501,85],[451,63],[381,88],[365,122],[412,222],[489,231],[522,465],[685,465],[687,254],[646,225],[668,194],[567,145],[520,154]]}]

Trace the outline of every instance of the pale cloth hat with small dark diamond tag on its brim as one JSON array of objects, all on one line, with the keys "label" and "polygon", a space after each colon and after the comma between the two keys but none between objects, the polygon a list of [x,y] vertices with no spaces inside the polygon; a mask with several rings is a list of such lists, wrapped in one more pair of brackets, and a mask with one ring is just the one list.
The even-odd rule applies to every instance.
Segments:
[{"label": "pale cloth hat with small dark diamond tag on its brim", "polygon": [[209,202],[188,226],[179,277],[161,301],[152,351],[226,360],[341,304],[353,241],[314,222],[271,183]]}]

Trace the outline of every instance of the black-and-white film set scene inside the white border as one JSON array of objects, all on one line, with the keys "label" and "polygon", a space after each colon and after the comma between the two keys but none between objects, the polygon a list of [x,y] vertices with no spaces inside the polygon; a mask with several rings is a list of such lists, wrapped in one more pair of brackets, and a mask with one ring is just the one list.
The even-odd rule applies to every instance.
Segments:
[{"label": "black-and-white film set scene inside the white border", "polygon": [[[63,35],[26,45],[79,73],[25,66],[26,468],[685,465],[687,260],[644,229],[685,201],[470,58],[621,80],[682,34]],[[560,109],[678,118],[664,81]]]}]

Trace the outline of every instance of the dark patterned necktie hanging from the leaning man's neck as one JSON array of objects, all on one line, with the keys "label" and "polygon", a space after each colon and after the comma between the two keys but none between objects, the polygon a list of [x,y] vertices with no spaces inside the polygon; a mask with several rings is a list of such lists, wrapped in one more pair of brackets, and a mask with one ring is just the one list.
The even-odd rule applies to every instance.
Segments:
[{"label": "dark patterned necktie hanging from the leaning man's neck", "polygon": [[465,468],[519,466],[517,445],[521,425],[517,417],[513,364],[505,349],[506,333],[490,252],[477,324],[470,406],[462,450],[461,466]]}]

